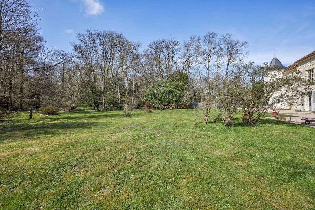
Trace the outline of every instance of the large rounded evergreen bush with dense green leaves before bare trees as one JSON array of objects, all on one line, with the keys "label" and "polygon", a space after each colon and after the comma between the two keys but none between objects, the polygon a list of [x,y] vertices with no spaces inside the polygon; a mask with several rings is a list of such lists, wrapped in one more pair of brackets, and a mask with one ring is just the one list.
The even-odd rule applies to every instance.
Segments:
[{"label": "large rounded evergreen bush with dense green leaves before bare trees", "polygon": [[151,84],[144,94],[146,101],[159,109],[179,105],[186,85],[181,81],[161,80]]}]

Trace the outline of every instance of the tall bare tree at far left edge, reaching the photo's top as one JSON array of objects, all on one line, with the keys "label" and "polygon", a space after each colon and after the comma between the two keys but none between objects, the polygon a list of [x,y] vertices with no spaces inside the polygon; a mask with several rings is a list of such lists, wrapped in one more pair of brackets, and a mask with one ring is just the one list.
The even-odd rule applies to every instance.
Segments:
[{"label": "tall bare tree at far left edge, reaching the photo's top", "polygon": [[[2,0],[0,2],[0,91],[8,93],[8,108],[13,108],[14,80],[18,79],[16,70],[23,71],[23,54],[30,34],[37,37],[38,15],[31,13],[31,5],[25,0]],[[33,38],[29,39],[32,40]],[[21,68],[22,66],[22,68]],[[24,76],[24,72],[20,78]],[[23,81],[23,79],[22,79]],[[23,87],[23,86],[20,86]],[[20,94],[22,95],[22,94]],[[3,95],[5,97],[5,94]],[[19,97],[21,100],[21,96]]]}]

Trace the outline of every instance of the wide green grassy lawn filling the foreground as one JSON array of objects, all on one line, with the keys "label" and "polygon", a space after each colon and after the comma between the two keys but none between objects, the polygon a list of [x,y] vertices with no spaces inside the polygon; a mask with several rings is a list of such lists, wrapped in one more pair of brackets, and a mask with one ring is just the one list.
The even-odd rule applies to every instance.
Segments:
[{"label": "wide green grassy lawn filling the foreground", "polygon": [[20,113],[0,125],[0,209],[315,208],[314,128],[200,114]]}]

